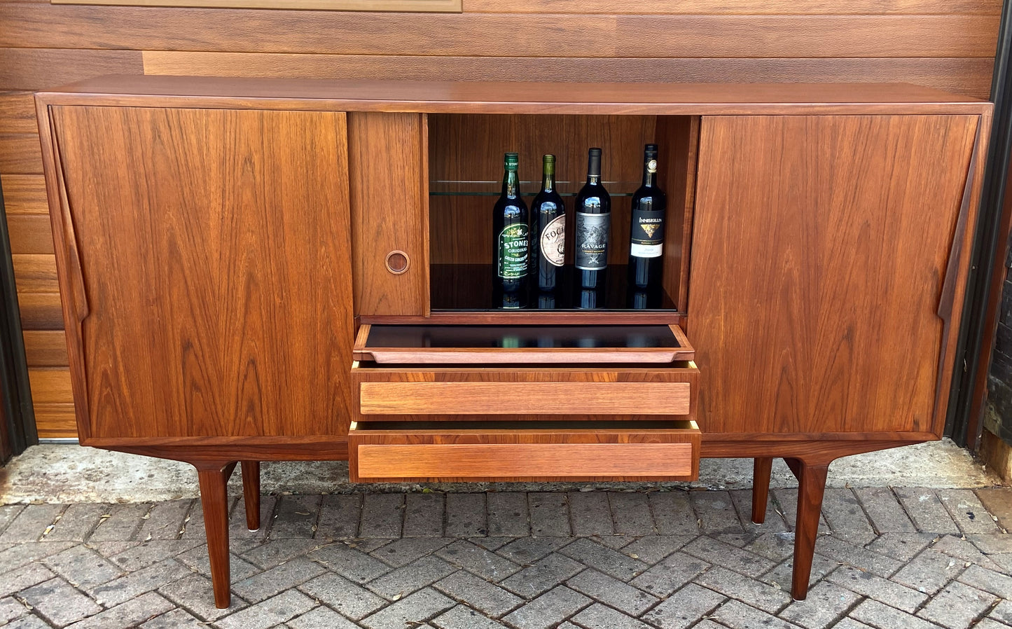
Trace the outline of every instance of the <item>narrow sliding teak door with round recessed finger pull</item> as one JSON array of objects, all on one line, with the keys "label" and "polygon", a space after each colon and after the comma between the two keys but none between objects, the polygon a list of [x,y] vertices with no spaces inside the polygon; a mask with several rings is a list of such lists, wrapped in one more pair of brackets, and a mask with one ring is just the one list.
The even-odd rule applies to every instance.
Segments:
[{"label": "narrow sliding teak door with round recessed finger pull", "polygon": [[[356,314],[426,315],[429,303],[428,154],[418,113],[348,115],[348,183]],[[396,217],[396,220],[394,220]],[[402,274],[387,269],[391,251],[409,258]]]}]

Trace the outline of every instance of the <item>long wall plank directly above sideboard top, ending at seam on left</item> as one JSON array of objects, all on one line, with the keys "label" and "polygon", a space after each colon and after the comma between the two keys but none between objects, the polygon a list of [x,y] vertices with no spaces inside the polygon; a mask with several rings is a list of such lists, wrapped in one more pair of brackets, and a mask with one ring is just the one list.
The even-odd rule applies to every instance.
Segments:
[{"label": "long wall plank directly above sideboard top, ending at seam on left", "polygon": [[656,59],[425,57],[145,51],[149,75],[495,81],[909,82],[987,98],[993,57]]}]

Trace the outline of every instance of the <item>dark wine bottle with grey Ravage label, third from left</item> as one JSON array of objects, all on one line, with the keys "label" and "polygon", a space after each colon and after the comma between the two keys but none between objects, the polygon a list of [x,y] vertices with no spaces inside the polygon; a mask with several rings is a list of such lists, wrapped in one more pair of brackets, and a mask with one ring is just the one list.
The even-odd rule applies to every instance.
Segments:
[{"label": "dark wine bottle with grey Ravage label, third from left", "polygon": [[604,288],[610,221],[611,196],[601,185],[601,149],[590,149],[587,182],[576,196],[575,266],[578,288]]}]

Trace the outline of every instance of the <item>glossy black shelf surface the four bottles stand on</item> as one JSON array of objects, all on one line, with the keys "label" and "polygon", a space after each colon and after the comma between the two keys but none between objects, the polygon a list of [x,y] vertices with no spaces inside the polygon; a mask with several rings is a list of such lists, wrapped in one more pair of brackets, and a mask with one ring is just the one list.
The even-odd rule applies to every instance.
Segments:
[{"label": "glossy black shelf surface the four bottles stand on", "polygon": [[[559,289],[551,295],[539,295],[536,287],[527,296],[527,306],[521,309],[497,308],[493,292],[492,264],[432,264],[431,286],[433,311],[469,312],[673,312],[677,308],[663,290],[651,295],[642,292],[630,295],[625,264],[611,264],[603,290],[593,295],[581,294],[574,287],[573,266],[560,269]],[[596,308],[581,308],[581,299],[592,298]],[[637,306],[630,305],[635,299]],[[502,303],[500,296],[500,304]]]}]

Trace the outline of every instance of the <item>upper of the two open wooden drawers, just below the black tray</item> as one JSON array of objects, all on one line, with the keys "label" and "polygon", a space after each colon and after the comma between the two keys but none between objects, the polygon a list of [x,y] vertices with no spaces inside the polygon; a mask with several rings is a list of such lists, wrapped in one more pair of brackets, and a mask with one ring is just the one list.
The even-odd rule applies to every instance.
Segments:
[{"label": "upper of the two open wooden drawers, just below the black tray", "polygon": [[512,418],[694,419],[699,370],[695,364],[656,368],[572,366],[387,368],[356,363],[362,419],[433,415],[510,415]]}]

